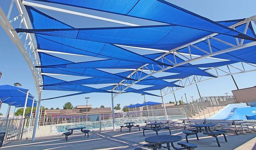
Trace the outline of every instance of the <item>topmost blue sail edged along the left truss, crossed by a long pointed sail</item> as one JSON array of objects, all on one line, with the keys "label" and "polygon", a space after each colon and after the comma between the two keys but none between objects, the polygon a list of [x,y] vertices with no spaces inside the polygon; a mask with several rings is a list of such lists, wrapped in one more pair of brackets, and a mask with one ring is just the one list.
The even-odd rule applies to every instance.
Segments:
[{"label": "topmost blue sail edged along the left truss, crossed by a long pointed sail", "polygon": [[[34,29],[73,28],[72,26],[63,23],[60,20],[52,18],[51,16],[41,11],[38,11],[31,6],[26,6],[26,9],[28,11],[28,15]],[[42,24],[42,22],[44,23]],[[126,60],[137,63],[153,63],[164,65],[163,63],[157,62],[152,58],[136,54],[127,49],[108,43],[52,37],[47,35],[35,36],[38,49],[79,54],[85,56],[94,56],[100,58]]]}]

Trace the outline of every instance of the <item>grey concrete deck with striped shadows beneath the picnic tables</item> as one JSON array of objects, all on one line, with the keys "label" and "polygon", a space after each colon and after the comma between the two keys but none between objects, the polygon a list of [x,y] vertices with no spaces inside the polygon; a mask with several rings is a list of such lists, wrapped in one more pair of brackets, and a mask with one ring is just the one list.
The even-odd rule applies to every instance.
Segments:
[{"label": "grey concrete deck with striped shadows beneath the picnic tables", "polygon": [[[185,140],[185,134],[182,133],[184,129],[172,130],[172,135],[180,135]],[[159,135],[168,135],[169,131],[162,130]],[[145,137],[143,137],[142,130],[134,128],[131,133],[128,129],[117,131],[95,131],[90,132],[89,138],[84,137],[84,133],[75,133],[68,137],[66,141],[65,136],[55,136],[50,138],[38,138],[36,141],[20,140],[20,141],[8,141],[3,144],[1,149],[4,150],[26,150],[26,149],[85,149],[85,150],[111,150],[111,149],[124,149],[133,150],[134,148],[143,147],[145,144],[144,139],[149,136],[155,136],[153,131],[145,131]],[[217,146],[216,139],[213,137],[205,136],[202,133],[198,134],[199,140],[196,140],[195,135],[188,137],[190,143],[194,143],[198,146],[196,150],[256,150],[256,132],[248,132],[244,134],[228,134],[228,142],[224,142],[223,136],[218,136],[221,147]],[[175,144],[178,146],[177,144]],[[144,149],[148,149],[143,147]],[[172,148],[173,149],[173,148]]]}]

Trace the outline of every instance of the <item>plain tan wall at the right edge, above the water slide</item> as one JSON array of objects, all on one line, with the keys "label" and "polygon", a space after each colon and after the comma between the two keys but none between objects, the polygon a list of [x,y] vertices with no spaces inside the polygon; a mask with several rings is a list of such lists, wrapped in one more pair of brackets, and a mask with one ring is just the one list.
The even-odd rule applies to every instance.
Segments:
[{"label": "plain tan wall at the right edge, above the water slide", "polygon": [[256,101],[256,86],[234,90],[232,93],[235,96],[237,103],[246,102],[248,104],[248,102]]}]

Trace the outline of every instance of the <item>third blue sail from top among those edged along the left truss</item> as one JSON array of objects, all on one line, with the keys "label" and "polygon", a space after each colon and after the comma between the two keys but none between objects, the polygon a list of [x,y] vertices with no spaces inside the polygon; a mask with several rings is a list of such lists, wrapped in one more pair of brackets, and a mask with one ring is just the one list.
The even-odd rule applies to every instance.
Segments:
[{"label": "third blue sail from top among those edged along the left truss", "polygon": [[[49,76],[43,76],[44,84],[52,84],[58,82],[65,82],[64,80],[52,78]],[[57,90],[57,91],[74,91],[74,92],[99,92],[99,93],[113,93],[106,90],[101,90],[89,86],[82,85],[68,85],[68,86],[44,86],[44,90]]]}]

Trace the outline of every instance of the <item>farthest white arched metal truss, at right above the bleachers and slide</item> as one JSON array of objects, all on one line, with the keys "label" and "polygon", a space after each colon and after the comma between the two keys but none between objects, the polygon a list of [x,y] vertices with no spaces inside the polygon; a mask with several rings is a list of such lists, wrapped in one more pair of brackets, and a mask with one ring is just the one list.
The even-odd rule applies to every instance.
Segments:
[{"label": "farthest white arched metal truss, at right above the bleachers and slide", "polygon": [[[214,68],[206,71],[216,77],[203,77],[203,76],[193,75],[193,76],[189,76],[184,79],[181,79],[181,80],[175,82],[175,84],[177,84],[179,86],[184,86],[184,87],[165,87],[164,89],[162,89],[162,91],[164,93],[163,96],[167,96],[167,95],[172,94],[173,92],[176,92],[182,88],[194,85],[196,83],[204,82],[204,81],[207,81],[210,79],[225,77],[225,76],[239,74],[239,73],[256,71],[256,65],[253,65],[253,64],[239,62],[239,63],[236,63],[236,65],[237,66],[234,66],[233,64],[229,64],[226,66],[214,67]],[[250,65],[251,67],[250,67],[250,69],[245,69],[244,65]],[[230,67],[233,67],[234,69],[231,71]],[[220,73],[221,73],[221,75],[220,75]],[[196,81],[194,80],[194,78],[196,79]]]}]

